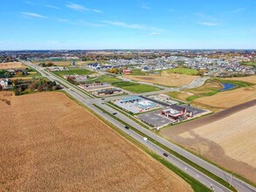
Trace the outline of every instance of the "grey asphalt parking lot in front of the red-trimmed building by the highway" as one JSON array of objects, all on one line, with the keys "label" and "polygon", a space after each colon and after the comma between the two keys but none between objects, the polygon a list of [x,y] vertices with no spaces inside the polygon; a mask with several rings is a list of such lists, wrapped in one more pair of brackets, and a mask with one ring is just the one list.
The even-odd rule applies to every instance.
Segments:
[{"label": "grey asphalt parking lot in front of the red-trimmed building by the highway", "polygon": [[163,127],[174,122],[174,120],[170,120],[160,115],[160,113],[161,113],[161,110],[158,110],[155,112],[143,113],[143,114],[137,115],[137,117],[140,118],[140,120],[142,120],[143,122],[153,127]]}]

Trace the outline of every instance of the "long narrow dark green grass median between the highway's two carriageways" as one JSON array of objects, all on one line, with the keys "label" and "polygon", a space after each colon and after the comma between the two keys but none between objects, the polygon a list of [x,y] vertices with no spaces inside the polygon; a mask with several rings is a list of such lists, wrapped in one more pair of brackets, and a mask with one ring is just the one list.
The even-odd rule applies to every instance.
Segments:
[{"label": "long narrow dark green grass median between the highway's two carriageways", "polygon": [[[209,177],[211,177],[211,179],[215,180],[216,182],[222,184],[223,186],[225,186],[227,189],[231,189],[232,191],[237,191],[236,189],[234,189],[232,186],[229,186],[228,182],[225,182],[223,179],[219,178],[216,175],[213,175],[210,171],[201,168],[200,166],[198,166],[196,163],[194,163],[193,161],[190,161],[188,159],[186,159],[185,157],[183,157],[181,154],[176,153],[175,151],[171,150],[169,147],[165,147],[162,143],[154,140],[153,138],[149,137],[146,134],[143,134],[142,132],[140,132],[139,130],[137,130],[135,127],[131,127],[130,125],[128,125],[128,123],[124,122],[123,120],[118,119],[116,116],[114,116],[112,113],[108,113],[107,111],[105,111],[104,109],[102,109],[100,106],[97,106],[95,104],[93,104],[93,106],[95,106],[96,108],[98,108],[100,111],[102,111],[103,113],[106,113],[108,116],[112,117],[114,120],[119,121],[121,124],[123,124],[124,126],[128,126],[130,129],[132,129],[133,131],[135,131],[137,134],[142,135],[142,137],[147,137],[149,139],[149,141],[154,142],[158,147],[162,147],[165,151],[169,152],[170,154],[173,154],[174,156],[176,156],[178,159],[186,162],[187,164],[189,164],[191,167],[196,168],[197,170],[199,170],[200,172],[202,172],[204,175],[207,175]],[[200,190],[199,190],[200,191]],[[203,190],[204,191],[204,190]]]}]

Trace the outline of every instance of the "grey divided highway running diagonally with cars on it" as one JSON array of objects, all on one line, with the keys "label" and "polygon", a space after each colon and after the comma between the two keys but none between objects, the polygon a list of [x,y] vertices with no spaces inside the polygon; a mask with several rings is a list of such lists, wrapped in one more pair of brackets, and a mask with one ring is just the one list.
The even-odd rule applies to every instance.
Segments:
[{"label": "grey divided highway running diagonally with cars on it", "polygon": [[[108,113],[116,112],[113,108],[106,106],[106,105],[102,105],[101,99],[90,98],[88,95],[81,92],[78,88],[71,86],[70,84],[66,83],[66,81],[64,81],[63,79],[60,79],[59,77],[52,75],[51,72],[46,72],[42,67],[39,67],[38,65],[32,65],[30,62],[24,62],[24,64],[29,65],[32,68],[36,69],[38,72],[40,72],[42,74],[42,76],[44,76],[50,80],[58,81],[60,84],[66,86],[67,88],[66,87],[64,88],[64,91],[66,91],[66,93],[69,93],[70,95],[73,96],[73,98],[78,99],[81,103],[83,103],[85,106],[92,109],[95,113],[100,114],[101,117],[103,117],[107,121],[114,124],[114,126],[119,127],[122,131],[124,131],[125,133],[127,133],[130,136],[132,136],[133,138],[135,138],[136,141],[141,142],[145,146],[149,147],[151,150],[156,151],[157,154],[160,154],[163,156],[164,150],[162,148],[157,147],[154,143],[151,143],[150,141],[149,142],[143,141],[141,135],[136,134],[135,132],[133,132],[130,129],[129,130],[125,129],[124,125],[122,125],[119,121],[112,119],[107,114],[102,113],[95,106],[92,106],[92,104],[96,104],[97,106],[100,106],[101,108],[106,110]],[[204,80],[205,79],[195,79],[188,86],[194,87],[194,86],[204,84]],[[184,88],[184,87],[185,86],[180,87],[180,88]],[[249,185],[248,183],[239,180],[237,177],[232,176],[231,174],[212,165],[211,163],[209,163],[207,161],[204,161],[203,159],[197,157],[195,154],[191,154],[190,152],[184,150],[182,147],[178,147],[174,143],[165,140],[163,137],[160,137],[160,136],[154,134],[153,132],[149,131],[148,129],[141,127],[140,125],[135,123],[135,121],[130,120],[124,114],[118,113],[118,112],[116,112],[116,113],[117,113],[116,117],[118,119],[128,123],[131,127],[135,127],[137,130],[141,131],[143,134],[146,134],[149,137],[154,138],[154,140],[162,143],[166,147],[169,147],[171,150],[175,151],[176,153],[183,155],[183,157],[189,159],[190,161],[193,161],[198,166],[210,171],[212,174],[217,175],[218,177],[222,178],[226,182],[232,182],[232,186],[234,186],[238,191],[242,191],[242,192],[253,192],[253,191],[255,192],[256,191],[256,189],[253,186]],[[202,182],[208,188],[213,189],[214,191],[230,191],[229,189],[226,189],[224,186],[222,186],[218,182],[215,182],[208,176],[200,173],[195,168],[191,168],[189,165],[187,165],[183,161],[177,159],[176,157],[169,154],[169,156],[165,157],[165,158],[166,158],[166,160],[168,160],[171,163],[173,163],[174,165],[176,165],[176,167],[181,168],[188,175],[193,176],[195,179],[197,179],[197,181]]]}]

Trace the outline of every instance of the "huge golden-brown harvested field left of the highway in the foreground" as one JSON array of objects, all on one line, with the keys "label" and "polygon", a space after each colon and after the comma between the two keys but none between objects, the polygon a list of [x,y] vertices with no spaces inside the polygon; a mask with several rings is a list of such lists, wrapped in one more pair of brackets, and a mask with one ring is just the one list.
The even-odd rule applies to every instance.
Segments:
[{"label": "huge golden-brown harvested field left of the highway in the foreground", "polygon": [[192,191],[64,93],[0,92],[0,191]]}]

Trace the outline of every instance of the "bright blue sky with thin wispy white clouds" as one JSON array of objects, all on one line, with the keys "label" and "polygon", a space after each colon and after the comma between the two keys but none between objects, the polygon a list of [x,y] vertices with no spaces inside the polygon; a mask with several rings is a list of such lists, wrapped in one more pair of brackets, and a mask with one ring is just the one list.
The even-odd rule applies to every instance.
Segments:
[{"label": "bright blue sky with thin wispy white clouds", "polygon": [[2,0],[0,50],[255,49],[255,0]]}]

